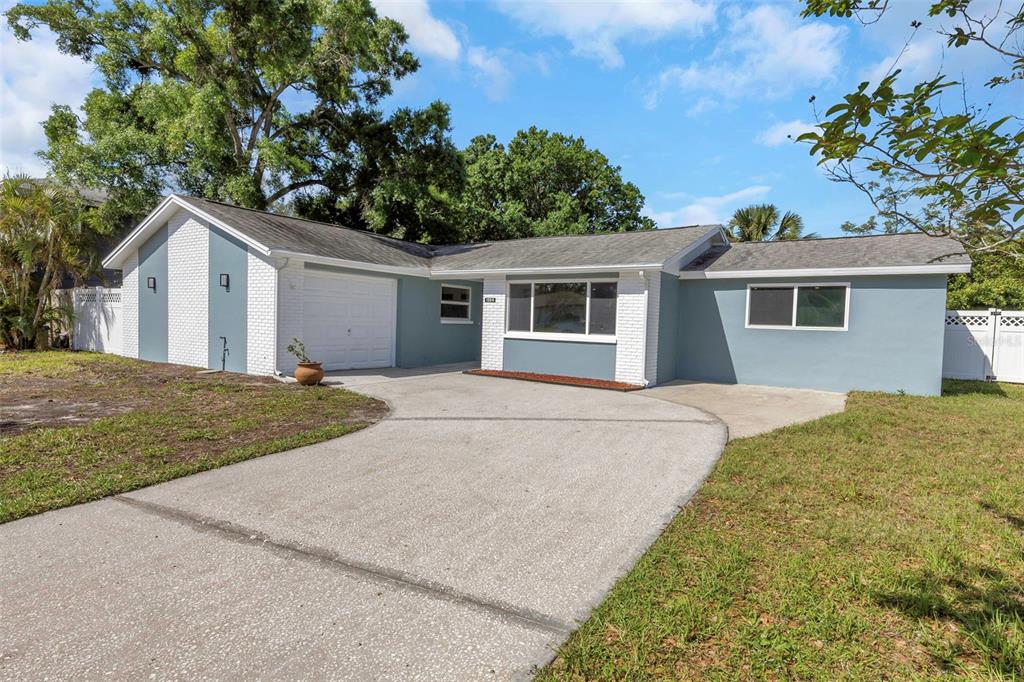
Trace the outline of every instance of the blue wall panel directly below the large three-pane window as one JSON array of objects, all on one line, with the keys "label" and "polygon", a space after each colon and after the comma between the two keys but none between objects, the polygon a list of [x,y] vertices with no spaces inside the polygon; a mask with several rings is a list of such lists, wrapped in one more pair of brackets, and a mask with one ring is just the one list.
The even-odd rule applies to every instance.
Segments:
[{"label": "blue wall panel directly below the large three-pane window", "polygon": [[536,372],[586,379],[615,378],[615,344],[505,339],[506,372]]}]

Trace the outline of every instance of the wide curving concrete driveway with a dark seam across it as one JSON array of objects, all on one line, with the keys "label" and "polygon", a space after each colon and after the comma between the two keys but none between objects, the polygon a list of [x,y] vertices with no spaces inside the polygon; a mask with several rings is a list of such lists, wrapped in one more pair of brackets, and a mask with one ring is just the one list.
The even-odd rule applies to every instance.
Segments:
[{"label": "wide curving concrete driveway with a dark seam across it", "polygon": [[352,383],[391,416],[0,526],[0,677],[523,677],[726,438],[637,393]]}]

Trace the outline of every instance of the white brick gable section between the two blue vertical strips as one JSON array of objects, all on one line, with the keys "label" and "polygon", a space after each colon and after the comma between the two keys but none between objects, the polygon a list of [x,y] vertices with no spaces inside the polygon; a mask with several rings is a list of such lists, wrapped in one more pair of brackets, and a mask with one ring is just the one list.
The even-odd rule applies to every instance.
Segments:
[{"label": "white brick gable section between the two blue vertical strips", "polygon": [[167,361],[210,357],[210,231],[186,211],[167,223]]}]

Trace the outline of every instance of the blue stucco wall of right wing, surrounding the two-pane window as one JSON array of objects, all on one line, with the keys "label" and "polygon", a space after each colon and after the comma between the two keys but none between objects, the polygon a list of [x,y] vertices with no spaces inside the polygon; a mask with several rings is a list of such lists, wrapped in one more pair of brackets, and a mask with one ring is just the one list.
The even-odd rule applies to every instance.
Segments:
[{"label": "blue stucco wall of right wing, surrounding the two-pane window", "polygon": [[[770,280],[680,282],[676,377],[836,391],[940,392],[944,274],[812,281],[850,283],[848,331],[745,329],[746,285]],[[663,346],[659,354],[668,349]]]}]

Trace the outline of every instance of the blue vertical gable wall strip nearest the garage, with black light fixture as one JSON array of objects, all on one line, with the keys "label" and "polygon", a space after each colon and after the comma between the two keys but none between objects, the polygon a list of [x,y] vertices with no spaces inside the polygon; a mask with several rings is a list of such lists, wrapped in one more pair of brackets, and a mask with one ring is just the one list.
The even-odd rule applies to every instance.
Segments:
[{"label": "blue vertical gable wall strip nearest the garage, with black light fixture", "polygon": [[[246,292],[249,254],[246,245],[216,227],[210,227],[210,324],[207,367],[220,369],[224,342],[228,372],[246,371]],[[228,288],[220,286],[220,274],[228,275]]]}]

